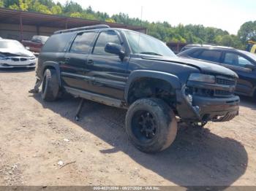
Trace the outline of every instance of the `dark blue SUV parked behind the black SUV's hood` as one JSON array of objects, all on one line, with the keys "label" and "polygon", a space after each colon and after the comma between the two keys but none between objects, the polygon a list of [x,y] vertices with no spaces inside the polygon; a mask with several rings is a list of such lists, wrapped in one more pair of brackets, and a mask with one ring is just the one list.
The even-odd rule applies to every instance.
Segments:
[{"label": "dark blue SUV parked behind the black SUV's hood", "polygon": [[256,55],[232,47],[188,46],[178,56],[209,61],[235,71],[239,77],[236,93],[256,98]]}]

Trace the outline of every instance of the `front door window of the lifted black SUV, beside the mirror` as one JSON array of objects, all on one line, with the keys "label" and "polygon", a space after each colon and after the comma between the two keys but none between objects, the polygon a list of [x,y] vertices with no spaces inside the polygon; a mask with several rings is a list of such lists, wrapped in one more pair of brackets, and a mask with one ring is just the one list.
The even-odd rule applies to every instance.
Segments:
[{"label": "front door window of the lifted black SUV, beside the mirror", "polygon": [[116,31],[102,31],[99,34],[99,38],[94,46],[94,54],[96,55],[111,55],[108,52],[105,52],[105,46],[108,42],[120,44],[121,42],[116,34]]}]

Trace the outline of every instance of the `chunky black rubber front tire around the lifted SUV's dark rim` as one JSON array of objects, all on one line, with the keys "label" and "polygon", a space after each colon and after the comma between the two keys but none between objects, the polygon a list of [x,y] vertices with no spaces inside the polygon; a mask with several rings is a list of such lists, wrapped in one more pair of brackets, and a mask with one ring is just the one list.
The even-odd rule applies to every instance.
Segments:
[{"label": "chunky black rubber front tire around the lifted SUV's dark rim", "polygon": [[[141,111],[149,112],[151,116],[154,117],[154,122],[156,124],[156,133],[154,133],[152,139],[149,141],[146,140],[146,143],[138,138],[138,130],[136,129],[138,125],[135,125],[137,123],[134,122]],[[169,147],[176,138],[176,116],[165,101],[162,101],[161,99],[142,98],[135,101],[131,106],[129,106],[125,125],[130,141],[132,141],[132,144],[142,152],[160,152]]]}]

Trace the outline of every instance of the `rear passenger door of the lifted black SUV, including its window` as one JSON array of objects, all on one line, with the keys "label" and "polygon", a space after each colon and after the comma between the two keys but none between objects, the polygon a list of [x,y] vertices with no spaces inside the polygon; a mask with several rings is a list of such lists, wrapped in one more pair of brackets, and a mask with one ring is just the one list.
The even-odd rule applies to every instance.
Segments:
[{"label": "rear passenger door of the lifted black SUV, including its window", "polygon": [[80,90],[88,89],[85,68],[95,36],[95,31],[86,31],[75,36],[75,40],[65,55],[64,64],[61,66],[61,77],[64,85]]}]

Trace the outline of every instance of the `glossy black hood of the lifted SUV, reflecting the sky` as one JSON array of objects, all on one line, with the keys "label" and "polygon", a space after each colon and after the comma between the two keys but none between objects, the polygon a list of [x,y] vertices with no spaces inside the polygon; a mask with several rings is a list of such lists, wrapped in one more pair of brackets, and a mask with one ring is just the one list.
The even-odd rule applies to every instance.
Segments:
[{"label": "glossy black hood of the lifted SUV, reflecting the sky", "polygon": [[141,58],[146,59],[146,60],[181,63],[181,64],[185,64],[187,66],[193,66],[205,74],[221,74],[221,75],[225,75],[225,76],[238,78],[238,75],[234,71],[231,71],[230,69],[227,69],[224,66],[219,66],[218,64],[208,63],[208,62],[204,62],[204,61],[198,61],[195,59],[179,58],[179,57],[169,58],[169,57],[162,57],[162,56],[159,57],[159,56],[151,56],[151,55],[149,55],[149,56],[143,55],[143,56],[141,56]]}]

